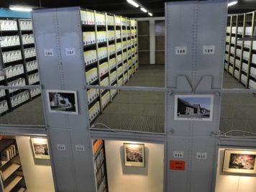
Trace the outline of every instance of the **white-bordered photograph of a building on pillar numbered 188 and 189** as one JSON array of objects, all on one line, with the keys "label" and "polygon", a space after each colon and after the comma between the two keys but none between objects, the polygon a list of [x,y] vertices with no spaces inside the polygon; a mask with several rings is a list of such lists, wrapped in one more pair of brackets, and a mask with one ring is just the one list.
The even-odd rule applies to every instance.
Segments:
[{"label": "white-bordered photograph of a building on pillar numbered 188 and 189", "polygon": [[175,95],[174,119],[212,121],[213,95]]}]

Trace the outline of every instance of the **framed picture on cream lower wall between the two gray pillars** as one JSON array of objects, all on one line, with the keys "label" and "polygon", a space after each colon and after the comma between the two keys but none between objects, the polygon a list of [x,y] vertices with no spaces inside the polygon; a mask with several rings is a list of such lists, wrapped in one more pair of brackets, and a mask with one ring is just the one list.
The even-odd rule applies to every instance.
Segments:
[{"label": "framed picture on cream lower wall between the two gray pillars", "polygon": [[129,167],[145,167],[144,144],[124,143],[124,165]]}]

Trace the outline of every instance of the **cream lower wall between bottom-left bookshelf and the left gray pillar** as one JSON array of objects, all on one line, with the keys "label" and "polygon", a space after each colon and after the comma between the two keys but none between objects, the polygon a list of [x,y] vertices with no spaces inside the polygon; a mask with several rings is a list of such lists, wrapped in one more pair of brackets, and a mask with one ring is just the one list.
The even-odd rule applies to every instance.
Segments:
[{"label": "cream lower wall between bottom-left bookshelf and the left gray pillar", "polygon": [[55,191],[50,160],[34,159],[30,137],[17,136],[16,140],[27,191]]}]

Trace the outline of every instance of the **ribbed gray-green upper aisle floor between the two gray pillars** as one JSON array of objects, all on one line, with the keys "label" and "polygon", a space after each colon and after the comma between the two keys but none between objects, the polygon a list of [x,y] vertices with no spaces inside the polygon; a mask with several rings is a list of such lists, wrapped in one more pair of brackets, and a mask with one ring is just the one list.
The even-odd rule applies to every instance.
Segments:
[{"label": "ribbed gray-green upper aisle floor between the two gray pillars", "polygon": [[[140,65],[126,86],[164,87],[165,66]],[[93,127],[163,133],[164,102],[164,92],[120,91]]]}]

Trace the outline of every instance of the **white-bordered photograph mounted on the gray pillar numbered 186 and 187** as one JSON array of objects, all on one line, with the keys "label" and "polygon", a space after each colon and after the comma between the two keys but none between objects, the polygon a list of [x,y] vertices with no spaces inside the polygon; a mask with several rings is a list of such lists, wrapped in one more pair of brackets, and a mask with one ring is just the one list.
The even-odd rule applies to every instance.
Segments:
[{"label": "white-bordered photograph mounted on the gray pillar numbered 186 and 187", "polygon": [[50,113],[78,114],[76,91],[46,90]]}]

